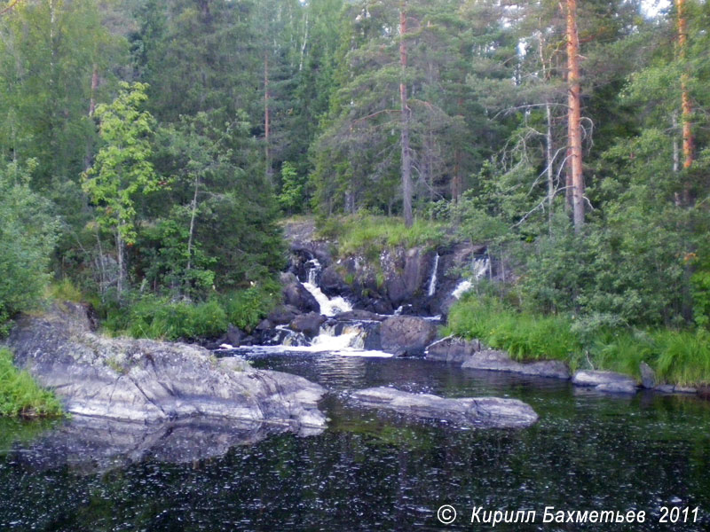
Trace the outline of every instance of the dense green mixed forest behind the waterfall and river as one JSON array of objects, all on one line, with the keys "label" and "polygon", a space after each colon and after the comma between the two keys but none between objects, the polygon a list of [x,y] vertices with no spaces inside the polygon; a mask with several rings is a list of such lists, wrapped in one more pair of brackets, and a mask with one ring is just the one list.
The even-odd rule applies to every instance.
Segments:
[{"label": "dense green mixed forest behind the waterfall and river", "polygon": [[700,0],[4,2],[0,324],[50,294],[138,336],[253,327],[280,220],[380,220],[509,265],[454,331],[672,331],[710,375],[708,27]]}]

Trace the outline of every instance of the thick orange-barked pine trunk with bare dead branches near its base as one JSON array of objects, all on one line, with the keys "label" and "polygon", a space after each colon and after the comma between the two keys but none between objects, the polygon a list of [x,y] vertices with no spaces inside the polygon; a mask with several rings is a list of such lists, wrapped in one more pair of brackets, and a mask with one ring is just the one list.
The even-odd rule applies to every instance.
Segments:
[{"label": "thick orange-barked pine trunk with bare dead branches near its base", "polygon": [[567,123],[567,185],[572,186],[574,231],[584,225],[584,176],[582,176],[580,38],[577,35],[577,0],[567,0],[567,83],[569,110]]}]

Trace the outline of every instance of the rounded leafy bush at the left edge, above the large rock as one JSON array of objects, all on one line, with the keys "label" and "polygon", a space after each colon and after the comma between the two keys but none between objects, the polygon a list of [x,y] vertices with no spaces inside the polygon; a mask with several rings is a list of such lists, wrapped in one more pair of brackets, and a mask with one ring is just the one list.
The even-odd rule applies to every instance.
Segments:
[{"label": "rounded leafy bush at the left edge, above the large rock", "polygon": [[36,305],[50,279],[58,223],[49,203],[29,188],[34,166],[0,168],[0,336],[8,318]]}]

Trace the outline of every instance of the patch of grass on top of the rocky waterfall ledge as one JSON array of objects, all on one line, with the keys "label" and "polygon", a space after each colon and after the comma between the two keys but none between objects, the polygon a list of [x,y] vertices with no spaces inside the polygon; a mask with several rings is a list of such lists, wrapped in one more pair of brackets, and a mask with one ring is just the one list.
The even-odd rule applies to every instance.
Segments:
[{"label": "patch of grass on top of the rocky waterfall ledge", "polygon": [[383,249],[393,247],[438,246],[446,241],[446,224],[415,220],[406,227],[396,217],[352,215],[331,217],[319,223],[318,236],[336,239],[340,256],[359,254],[375,260]]}]

